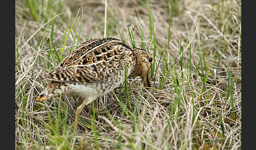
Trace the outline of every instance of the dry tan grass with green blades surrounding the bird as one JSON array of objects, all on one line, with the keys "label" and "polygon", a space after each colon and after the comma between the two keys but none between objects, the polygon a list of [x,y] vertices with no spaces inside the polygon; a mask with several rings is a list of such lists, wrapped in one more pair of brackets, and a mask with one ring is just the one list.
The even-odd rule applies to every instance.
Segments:
[{"label": "dry tan grass with green blades surrounding the bird", "polygon": [[[241,149],[241,1],[168,2],[150,1],[153,33],[146,1],[108,1],[106,35],[132,46],[128,26],[138,47],[155,52],[154,88],[129,79],[128,91],[123,85],[94,102],[101,109],[116,101],[116,110],[83,110],[79,132],[73,133],[75,95],[41,104],[35,98],[48,83],[42,74],[58,62],[50,41],[61,51],[81,5],[61,58],[86,39],[103,37],[105,2],[16,1],[15,147]],[[149,41],[160,48],[154,51]]]}]

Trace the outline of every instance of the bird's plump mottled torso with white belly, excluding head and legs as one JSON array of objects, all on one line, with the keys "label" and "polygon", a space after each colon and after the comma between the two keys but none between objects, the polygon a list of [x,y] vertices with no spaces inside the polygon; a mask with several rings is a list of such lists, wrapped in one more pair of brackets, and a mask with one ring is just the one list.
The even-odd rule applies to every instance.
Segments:
[{"label": "bird's plump mottled torso with white belly, excluding head and legs", "polygon": [[87,40],[44,75],[52,80],[46,91],[51,89],[55,95],[76,94],[96,99],[122,83],[125,73],[129,76],[133,66],[132,49],[122,41],[115,38]]}]

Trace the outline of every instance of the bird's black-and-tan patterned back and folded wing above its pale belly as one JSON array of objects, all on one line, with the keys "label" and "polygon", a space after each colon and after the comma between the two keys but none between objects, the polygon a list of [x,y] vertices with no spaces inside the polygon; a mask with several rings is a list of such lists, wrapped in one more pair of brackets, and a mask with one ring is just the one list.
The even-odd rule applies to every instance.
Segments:
[{"label": "bird's black-and-tan patterned back and folded wing above its pale belly", "polygon": [[106,79],[111,72],[121,69],[125,63],[125,51],[131,49],[114,38],[97,40],[88,40],[76,47],[44,77],[60,82],[91,83]]}]

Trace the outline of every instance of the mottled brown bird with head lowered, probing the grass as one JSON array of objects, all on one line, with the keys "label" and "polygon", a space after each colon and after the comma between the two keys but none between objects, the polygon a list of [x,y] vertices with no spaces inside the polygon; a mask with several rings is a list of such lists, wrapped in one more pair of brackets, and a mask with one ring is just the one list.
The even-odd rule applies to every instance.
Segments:
[{"label": "mottled brown bird with head lowered, probing the grass", "polygon": [[51,72],[38,95],[40,103],[60,95],[78,95],[84,100],[75,111],[75,128],[84,106],[117,88],[125,78],[139,76],[151,88],[149,71],[154,58],[142,48],[130,48],[113,37],[89,39],[78,45]]}]

